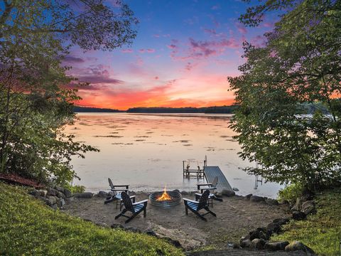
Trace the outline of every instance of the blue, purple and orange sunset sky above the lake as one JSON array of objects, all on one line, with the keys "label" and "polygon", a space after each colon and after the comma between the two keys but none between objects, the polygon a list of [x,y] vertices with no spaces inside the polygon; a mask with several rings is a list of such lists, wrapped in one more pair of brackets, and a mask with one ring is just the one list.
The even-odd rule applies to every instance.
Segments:
[{"label": "blue, purple and orange sunset sky above the lake", "polygon": [[127,110],[131,107],[232,105],[227,76],[239,75],[242,43],[264,45],[274,17],[261,26],[238,21],[248,5],[239,0],[129,0],[139,19],[131,46],[112,52],[72,48],[70,74],[91,85],[79,90],[77,105]]}]

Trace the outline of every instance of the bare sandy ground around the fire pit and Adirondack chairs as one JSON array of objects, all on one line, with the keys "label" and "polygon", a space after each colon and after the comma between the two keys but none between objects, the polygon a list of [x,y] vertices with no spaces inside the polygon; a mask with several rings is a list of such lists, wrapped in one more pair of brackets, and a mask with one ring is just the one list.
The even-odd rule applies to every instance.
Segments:
[{"label": "bare sandy ground around the fire pit and Adirondack chairs", "polygon": [[[194,200],[194,196],[184,196]],[[139,193],[136,201],[148,198],[148,194]],[[217,217],[206,215],[207,222],[200,220],[193,213],[185,215],[185,206],[180,203],[171,209],[162,209],[148,203],[147,216],[138,215],[130,223],[125,224],[126,218],[115,220],[119,214],[116,202],[104,205],[104,198],[72,198],[65,211],[95,223],[112,225],[119,223],[125,228],[133,227],[141,231],[153,230],[175,240],[179,240],[185,248],[204,245],[225,247],[227,242],[238,242],[242,235],[250,230],[271,223],[275,218],[288,217],[286,205],[269,206],[264,202],[254,203],[244,197],[224,197],[223,202],[214,201],[212,211]]]}]

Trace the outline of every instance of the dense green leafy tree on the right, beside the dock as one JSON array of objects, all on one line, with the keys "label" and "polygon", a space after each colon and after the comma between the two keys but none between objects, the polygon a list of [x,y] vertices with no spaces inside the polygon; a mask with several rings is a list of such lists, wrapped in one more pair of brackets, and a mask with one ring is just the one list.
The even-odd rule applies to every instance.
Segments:
[{"label": "dense green leafy tree on the right, beside the dock", "polygon": [[[282,11],[266,46],[244,43],[242,75],[229,77],[239,105],[232,129],[240,156],[268,181],[309,188],[340,183],[341,2],[265,1],[239,19],[258,26],[266,11]],[[303,103],[325,106],[311,117]]]}]

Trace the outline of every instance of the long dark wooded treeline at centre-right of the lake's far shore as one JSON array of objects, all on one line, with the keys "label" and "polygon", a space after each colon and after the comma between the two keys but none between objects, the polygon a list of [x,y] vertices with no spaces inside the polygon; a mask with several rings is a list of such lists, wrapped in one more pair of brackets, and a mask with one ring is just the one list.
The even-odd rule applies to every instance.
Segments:
[{"label": "long dark wooded treeline at centre-right of the lake's far shore", "polygon": [[126,110],[126,112],[232,114],[235,108],[234,105],[221,107],[133,107]]}]

